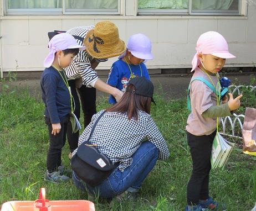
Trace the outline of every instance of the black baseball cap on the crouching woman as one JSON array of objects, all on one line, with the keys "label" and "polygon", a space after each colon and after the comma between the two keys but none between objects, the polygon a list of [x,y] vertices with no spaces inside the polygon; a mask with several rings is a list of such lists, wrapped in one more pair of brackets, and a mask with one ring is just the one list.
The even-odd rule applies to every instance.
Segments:
[{"label": "black baseball cap on the crouching woman", "polygon": [[129,81],[126,91],[128,90],[129,85],[135,86],[135,89],[132,90],[132,94],[138,94],[144,97],[151,97],[151,102],[155,103],[155,101],[153,100],[154,86],[150,80],[147,80],[147,78],[145,77],[137,76]]}]

